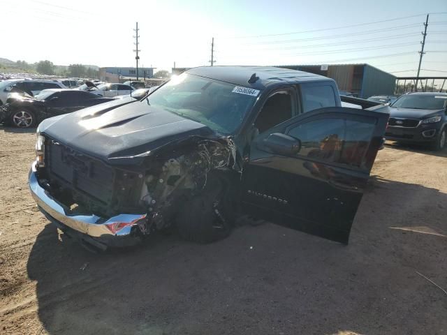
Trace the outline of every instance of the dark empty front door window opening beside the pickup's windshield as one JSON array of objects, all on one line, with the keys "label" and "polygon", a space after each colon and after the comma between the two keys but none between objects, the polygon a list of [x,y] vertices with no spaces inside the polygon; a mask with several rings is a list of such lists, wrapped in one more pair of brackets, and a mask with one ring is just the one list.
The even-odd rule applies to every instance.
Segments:
[{"label": "dark empty front door window opening beside the pickup's windshield", "polygon": [[278,91],[272,94],[263,105],[254,126],[259,133],[281,124],[292,117],[291,91]]}]

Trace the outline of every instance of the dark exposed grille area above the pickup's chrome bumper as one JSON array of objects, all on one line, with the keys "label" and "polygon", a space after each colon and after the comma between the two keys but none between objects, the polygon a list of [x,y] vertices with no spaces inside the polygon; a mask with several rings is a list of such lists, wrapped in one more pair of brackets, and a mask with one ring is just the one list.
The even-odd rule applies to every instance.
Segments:
[{"label": "dark exposed grille area above the pickup's chrome bumper", "polygon": [[50,179],[62,179],[103,204],[111,202],[115,172],[108,165],[52,140],[45,146],[45,160]]}]

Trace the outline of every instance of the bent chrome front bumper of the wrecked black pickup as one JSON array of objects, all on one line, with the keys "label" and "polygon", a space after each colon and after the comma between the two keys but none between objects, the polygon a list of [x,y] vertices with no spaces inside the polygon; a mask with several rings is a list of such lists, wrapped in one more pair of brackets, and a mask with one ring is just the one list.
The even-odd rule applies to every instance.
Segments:
[{"label": "bent chrome front bumper of the wrecked black pickup", "polygon": [[147,214],[119,214],[101,218],[95,214],[72,214],[64,204],[55,200],[37,178],[36,162],[29,171],[29,190],[45,216],[71,237],[96,248],[133,246],[145,232]]}]

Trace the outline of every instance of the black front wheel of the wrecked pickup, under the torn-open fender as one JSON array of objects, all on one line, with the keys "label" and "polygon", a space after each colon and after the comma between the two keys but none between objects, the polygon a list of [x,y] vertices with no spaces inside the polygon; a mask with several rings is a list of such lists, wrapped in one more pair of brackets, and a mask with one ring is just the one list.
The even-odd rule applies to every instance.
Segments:
[{"label": "black front wheel of the wrecked pickup, under the torn-open fender", "polygon": [[206,244],[230,234],[234,218],[223,188],[218,179],[210,181],[209,178],[207,189],[184,203],[176,219],[180,237]]}]

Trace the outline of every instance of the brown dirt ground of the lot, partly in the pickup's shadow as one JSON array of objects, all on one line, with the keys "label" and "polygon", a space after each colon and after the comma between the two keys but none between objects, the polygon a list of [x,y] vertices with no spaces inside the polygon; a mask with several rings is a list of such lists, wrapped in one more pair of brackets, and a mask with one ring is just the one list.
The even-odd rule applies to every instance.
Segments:
[{"label": "brown dirt ground of the lot, partly in the pickup's shadow", "polygon": [[447,334],[446,151],[380,151],[349,246],[266,223],[95,255],[37,211],[34,141],[0,128],[0,334]]}]

